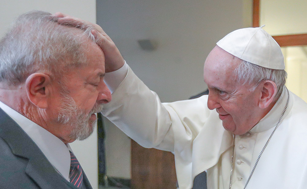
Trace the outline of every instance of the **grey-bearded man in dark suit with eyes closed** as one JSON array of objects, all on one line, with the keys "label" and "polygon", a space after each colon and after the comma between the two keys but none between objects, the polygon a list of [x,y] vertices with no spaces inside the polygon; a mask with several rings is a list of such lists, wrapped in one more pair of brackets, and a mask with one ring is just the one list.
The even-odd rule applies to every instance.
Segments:
[{"label": "grey-bearded man in dark suit with eyes closed", "polygon": [[92,188],[68,143],[111,100],[105,58],[90,26],[57,19],[25,13],[0,41],[0,188]]}]

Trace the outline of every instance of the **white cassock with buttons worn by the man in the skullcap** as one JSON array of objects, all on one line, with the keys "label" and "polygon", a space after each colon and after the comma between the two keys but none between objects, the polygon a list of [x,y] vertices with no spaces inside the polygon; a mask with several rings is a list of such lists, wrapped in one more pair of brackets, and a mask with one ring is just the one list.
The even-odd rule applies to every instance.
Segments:
[{"label": "white cassock with buttons worn by the man in the skullcap", "polygon": [[[236,136],[231,188],[244,187],[287,96],[284,88],[270,112],[248,133]],[[207,99],[161,103],[129,68],[102,113],[140,145],[173,152],[180,189],[192,188],[194,177],[205,170],[209,189],[229,188],[233,135],[223,128],[216,110],[208,109]],[[306,120],[307,104],[290,92],[286,112],[247,189],[307,188]]]}]

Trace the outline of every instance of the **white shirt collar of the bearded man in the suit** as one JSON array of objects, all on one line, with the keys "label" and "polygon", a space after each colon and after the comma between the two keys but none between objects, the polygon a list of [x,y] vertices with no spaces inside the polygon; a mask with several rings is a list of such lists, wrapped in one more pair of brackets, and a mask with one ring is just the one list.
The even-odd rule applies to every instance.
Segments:
[{"label": "white shirt collar of the bearded man in the suit", "polygon": [[[0,108],[6,112],[41,149],[43,154],[66,180],[69,180],[70,146],[65,145],[58,137],[32,122],[0,101]],[[72,151],[72,150],[71,150]]]}]

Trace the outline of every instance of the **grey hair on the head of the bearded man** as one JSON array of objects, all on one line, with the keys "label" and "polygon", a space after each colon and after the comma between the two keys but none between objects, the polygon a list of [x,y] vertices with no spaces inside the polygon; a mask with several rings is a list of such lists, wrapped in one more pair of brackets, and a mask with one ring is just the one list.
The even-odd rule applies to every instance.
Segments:
[{"label": "grey hair on the head of the bearded man", "polygon": [[60,25],[48,12],[20,15],[0,41],[0,82],[24,82],[37,71],[61,75],[65,66],[86,62],[86,41],[95,41],[89,25]]}]

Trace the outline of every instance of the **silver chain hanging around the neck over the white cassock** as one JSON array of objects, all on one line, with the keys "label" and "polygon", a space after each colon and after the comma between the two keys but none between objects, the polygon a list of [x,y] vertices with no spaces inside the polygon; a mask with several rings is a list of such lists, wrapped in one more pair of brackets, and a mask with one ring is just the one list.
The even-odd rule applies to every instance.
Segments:
[{"label": "silver chain hanging around the neck over the white cassock", "polygon": [[[287,88],[286,88],[286,89],[287,89]],[[266,146],[267,146],[268,143],[270,142],[270,140],[271,140],[271,138],[272,138],[272,136],[273,136],[275,130],[277,129],[277,126],[278,126],[279,122],[282,120],[282,116],[283,116],[283,115],[285,114],[285,112],[286,112],[286,109],[287,109],[288,104],[289,104],[289,91],[288,91],[288,89],[287,89],[287,92],[288,92],[288,98],[287,98],[287,103],[286,103],[285,109],[282,111],[282,115],[280,116],[280,118],[279,118],[279,120],[278,120],[278,122],[277,122],[277,124],[276,124],[276,126],[275,126],[275,128],[274,128],[274,130],[273,130],[273,132],[272,132],[272,134],[270,135],[269,139],[266,141],[266,144],[265,144],[264,147],[262,148],[262,150],[261,150],[261,152],[260,152],[260,154],[259,154],[259,156],[258,156],[258,158],[257,158],[257,160],[256,160],[256,163],[255,163],[255,165],[254,165],[254,168],[253,168],[253,170],[251,171],[251,174],[250,174],[250,176],[248,177],[247,182],[246,182],[246,184],[245,184],[245,186],[244,186],[243,189],[246,188],[248,182],[250,181],[251,176],[253,175],[253,173],[254,173],[254,171],[255,171],[255,168],[256,168],[256,166],[257,166],[257,164],[258,164],[258,161],[259,161],[259,159],[260,159],[260,157],[261,157],[261,155],[262,155],[264,149],[266,149]],[[232,145],[232,155],[231,155],[231,168],[230,168],[229,189],[231,189],[231,182],[232,182],[234,152],[235,152],[235,135],[233,136],[233,145]]]}]

